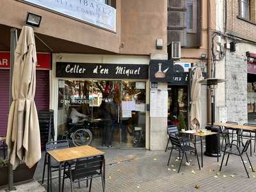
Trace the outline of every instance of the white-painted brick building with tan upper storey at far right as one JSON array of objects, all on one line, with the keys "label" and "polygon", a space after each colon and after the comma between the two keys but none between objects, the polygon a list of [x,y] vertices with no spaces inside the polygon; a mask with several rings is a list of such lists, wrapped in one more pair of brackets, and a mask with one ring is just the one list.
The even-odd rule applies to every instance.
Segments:
[{"label": "white-painted brick building with tan upper storey at far right", "polygon": [[216,77],[227,79],[216,93],[219,122],[255,124],[255,24],[255,1],[216,4]]}]

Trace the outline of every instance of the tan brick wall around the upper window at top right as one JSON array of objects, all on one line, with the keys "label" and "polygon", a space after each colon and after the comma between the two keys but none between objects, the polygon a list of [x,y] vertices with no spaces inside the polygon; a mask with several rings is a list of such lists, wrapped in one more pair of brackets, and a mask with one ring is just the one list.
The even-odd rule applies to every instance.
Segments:
[{"label": "tan brick wall around the upper window at top right", "polygon": [[250,21],[237,18],[240,0],[227,0],[227,33],[256,42],[256,0],[250,1]]}]

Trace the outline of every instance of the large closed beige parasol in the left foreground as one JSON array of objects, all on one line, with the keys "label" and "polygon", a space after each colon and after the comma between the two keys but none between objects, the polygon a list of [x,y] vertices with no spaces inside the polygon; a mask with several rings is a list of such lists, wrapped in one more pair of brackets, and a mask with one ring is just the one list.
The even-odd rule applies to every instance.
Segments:
[{"label": "large closed beige parasol in the left foreground", "polygon": [[12,78],[12,105],[8,116],[6,144],[13,170],[21,161],[31,168],[41,159],[40,130],[34,101],[36,86],[36,47],[33,29],[20,32]]}]

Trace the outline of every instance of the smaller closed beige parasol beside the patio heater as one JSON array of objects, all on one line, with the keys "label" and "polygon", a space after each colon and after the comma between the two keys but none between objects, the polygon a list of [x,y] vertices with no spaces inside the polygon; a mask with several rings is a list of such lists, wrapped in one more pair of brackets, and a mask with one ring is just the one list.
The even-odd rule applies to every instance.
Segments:
[{"label": "smaller closed beige parasol beside the patio heater", "polygon": [[191,127],[200,128],[201,123],[201,106],[200,106],[200,93],[201,84],[199,81],[204,79],[200,67],[195,68],[191,86],[191,109],[190,109],[190,123]]}]

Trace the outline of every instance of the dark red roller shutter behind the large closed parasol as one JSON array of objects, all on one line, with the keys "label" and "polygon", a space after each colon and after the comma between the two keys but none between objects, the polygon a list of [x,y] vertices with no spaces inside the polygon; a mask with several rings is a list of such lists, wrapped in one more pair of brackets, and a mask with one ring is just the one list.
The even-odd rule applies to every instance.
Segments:
[{"label": "dark red roller shutter behind the large closed parasol", "polygon": [[[0,70],[0,136],[6,135],[9,113],[10,70]],[[49,109],[49,70],[36,70],[36,108]]]}]

